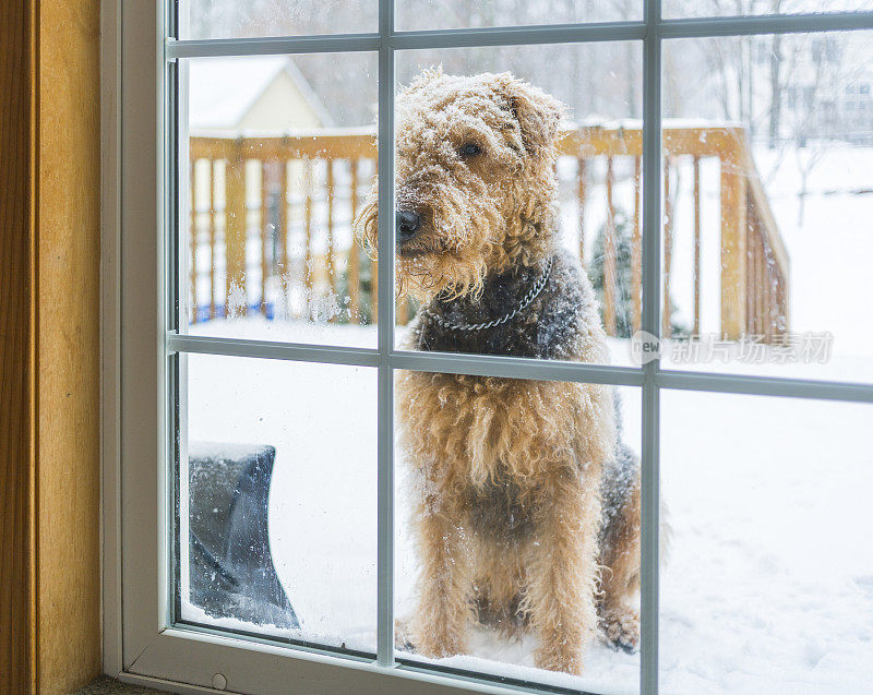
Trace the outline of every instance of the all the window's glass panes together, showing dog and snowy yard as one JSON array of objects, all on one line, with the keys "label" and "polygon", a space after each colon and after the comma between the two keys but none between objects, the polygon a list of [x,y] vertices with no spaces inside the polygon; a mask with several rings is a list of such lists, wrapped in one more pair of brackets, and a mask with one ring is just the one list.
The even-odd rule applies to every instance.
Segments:
[{"label": "all the window's glass panes together, showing dog and snowy yard", "polygon": [[[182,40],[378,31],[378,2],[176,4]],[[639,22],[644,8],[394,4],[399,32]],[[668,20],[873,10],[662,4]],[[653,35],[665,368],[873,383],[871,35]],[[260,50],[210,50],[240,45]],[[375,52],[184,58],[166,73],[178,108],[166,129],[179,135],[168,323],[182,334],[165,356],[174,622],[368,662],[386,588],[376,433],[391,392],[378,394],[375,368],[265,359],[279,347],[235,339],[375,347],[381,260],[383,279],[395,273],[397,350],[639,367],[651,345],[641,331],[643,43],[386,46],[388,229],[376,224]],[[380,233],[395,240],[391,268],[376,259]],[[639,390],[512,368],[408,372],[397,357],[379,356],[395,370],[394,431],[381,434],[394,440],[398,663],[637,693]],[[661,690],[863,690],[873,462],[858,433],[871,406],[658,391],[655,379]]]}]

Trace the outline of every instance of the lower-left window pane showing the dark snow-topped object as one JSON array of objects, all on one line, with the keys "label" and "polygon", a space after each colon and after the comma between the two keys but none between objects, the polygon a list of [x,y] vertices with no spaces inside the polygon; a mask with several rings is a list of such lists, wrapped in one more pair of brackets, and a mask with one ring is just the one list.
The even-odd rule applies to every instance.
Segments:
[{"label": "lower-left window pane showing the dark snow-topped object", "polygon": [[373,652],[375,370],[182,360],[179,619]]}]

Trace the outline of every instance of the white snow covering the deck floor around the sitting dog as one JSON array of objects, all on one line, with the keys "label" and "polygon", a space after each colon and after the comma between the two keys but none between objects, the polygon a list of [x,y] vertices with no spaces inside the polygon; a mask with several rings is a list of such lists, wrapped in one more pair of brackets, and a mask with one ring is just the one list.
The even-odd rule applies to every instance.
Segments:
[{"label": "white snow covering the deck floor around the sitting dog", "polygon": [[[311,331],[286,324],[282,336],[276,324],[246,323],[251,337],[300,339]],[[618,340],[612,347],[626,350]],[[187,359],[190,440],[276,447],[271,542],[302,622],[296,636],[374,649],[375,371]],[[873,364],[864,364],[873,379]],[[624,388],[622,397],[627,441],[638,451],[639,396]],[[674,392],[662,404],[672,526],[661,574],[665,692],[870,691],[873,406]],[[403,460],[397,467],[404,615],[416,559]],[[579,679],[534,669],[533,638],[504,643],[477,633],[473,645],[471,656],[447,663],[605,693],[637,690],[638,656],[599,644]]]}]

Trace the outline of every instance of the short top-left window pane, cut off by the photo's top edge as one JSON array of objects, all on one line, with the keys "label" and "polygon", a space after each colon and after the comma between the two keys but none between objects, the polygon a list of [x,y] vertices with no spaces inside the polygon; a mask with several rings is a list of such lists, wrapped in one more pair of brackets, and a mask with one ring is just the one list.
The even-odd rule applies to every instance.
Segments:
[{"label": "short top-left window pane, cut off by the photo's top edge", "polygon": [[375,32],[376,8],[367,0],[179,0],[179,38]]}]

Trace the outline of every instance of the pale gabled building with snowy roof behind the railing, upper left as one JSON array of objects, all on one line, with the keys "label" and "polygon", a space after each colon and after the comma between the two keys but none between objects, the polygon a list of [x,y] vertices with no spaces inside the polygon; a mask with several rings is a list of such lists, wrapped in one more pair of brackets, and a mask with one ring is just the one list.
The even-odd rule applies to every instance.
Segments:
[{"label": "pale gabled building with snowy roof behind the railing, upper left", "polygon": [[189,61],[193,134],[285,132],[330,128],[327,109],[287,56]]}]

